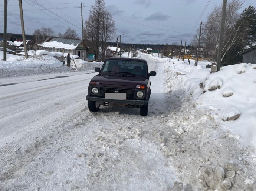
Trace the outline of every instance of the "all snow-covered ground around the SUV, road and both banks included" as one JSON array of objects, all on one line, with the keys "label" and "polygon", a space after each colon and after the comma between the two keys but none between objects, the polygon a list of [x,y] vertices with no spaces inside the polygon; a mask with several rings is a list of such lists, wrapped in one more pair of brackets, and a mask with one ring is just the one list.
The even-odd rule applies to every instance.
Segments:
[{"label": "all snow-covered ground around the SUV, road and both banks included", "polygon": [[256,190],[256,66],[138,57],[157,71],[147,117],[89,112],[102,62],[0,61],[0,190]]}]

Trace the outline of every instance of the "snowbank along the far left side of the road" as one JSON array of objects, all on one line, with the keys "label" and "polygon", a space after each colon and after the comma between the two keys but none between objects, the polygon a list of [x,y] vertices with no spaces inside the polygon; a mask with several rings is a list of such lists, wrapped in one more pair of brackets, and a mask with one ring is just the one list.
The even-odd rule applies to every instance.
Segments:
[{"label": "snowbank along the far left side of the road", "polygon": [[[68,55],[68,53],[63,55]],[[30,56],[28,59],[23,56],[7,54],[7,61],[0,61],[0,78],[94,70],[95,67],[101,68],[103,64],[103,62],[86,62],[82,59],[76,59],[79,56],[70,54],[72,60],[70,68],[68,68],[54,56],[61,57],[62,53],[38,50],[35,55]],[[73,61],[73,58],[75,61]],[[3,52],[0,52],[0,59],[3,59]]]}]

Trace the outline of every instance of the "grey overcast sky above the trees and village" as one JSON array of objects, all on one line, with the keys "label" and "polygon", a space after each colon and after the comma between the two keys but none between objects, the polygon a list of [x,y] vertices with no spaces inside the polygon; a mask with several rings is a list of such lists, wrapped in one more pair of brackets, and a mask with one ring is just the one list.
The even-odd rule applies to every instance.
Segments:
[{"label": "grey overcast sky above the trees and village", "polygon": [[[255,0],[245,1],[240,12]],[[83,20],[87,20],[95,0],[83,0]],[[222,0],[105,0],[106,9],[115,19],[117,36],[122,42],[134,44],[180,44],[187,39],[190,44],[200,21],[206,21],[208,13]],[[39,6],[39,5],[40,6]],[[51,27],[56,34],[68,27],[82,37],[81,2],[70,0],[22,0],[26,34],[33,34],[41,27]],[[0,32],[3,33],[4,1],[0,3]],[[19,1],[8,0],[7,33],[22,33]],[[120,38],[120,37],[119,37]]]}]

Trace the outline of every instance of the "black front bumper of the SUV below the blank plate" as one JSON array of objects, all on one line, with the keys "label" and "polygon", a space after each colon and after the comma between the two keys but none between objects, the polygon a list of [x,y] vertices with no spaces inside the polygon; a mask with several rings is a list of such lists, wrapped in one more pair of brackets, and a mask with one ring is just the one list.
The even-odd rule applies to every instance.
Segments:
[{"label": "black front bumper of the SUV below the blank plate", "polygon": [[87,101],[95,101],[95,102],[109,102],[109,103],[127,103],[131,105],[147,105],[148,100],[132,100],[132,99],[105,99],[99,98],[95,96],[86,96]]}]

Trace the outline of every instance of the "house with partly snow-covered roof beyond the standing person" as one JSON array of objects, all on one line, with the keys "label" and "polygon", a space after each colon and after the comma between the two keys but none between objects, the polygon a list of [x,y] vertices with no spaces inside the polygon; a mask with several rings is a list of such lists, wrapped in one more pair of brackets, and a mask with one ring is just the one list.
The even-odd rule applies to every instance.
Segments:
[{"label": "house with partly snow-covered roof beyond the standing person", "polygon": [[[39,46],[40,50],[70,53],[83,59],[83,45],[82,40],[79,39],[48,37],[42,44],[37,46]],[[87,48],[84,48],[85,56],[86,50]]]}]

